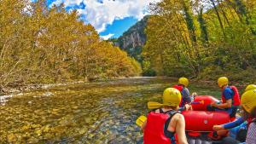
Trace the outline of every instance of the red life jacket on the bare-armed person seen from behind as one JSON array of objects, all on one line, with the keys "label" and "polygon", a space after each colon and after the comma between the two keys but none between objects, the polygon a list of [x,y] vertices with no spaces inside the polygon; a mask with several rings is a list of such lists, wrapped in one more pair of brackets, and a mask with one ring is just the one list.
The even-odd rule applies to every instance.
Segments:
[{"label": "red life jacket on the bare-armed person seen from behind", "polygon": [[177,111],[167,113],[149,112],[143,135],[144,144],[177,144],[177,135],[173,134],[172,137],[166,136],[167,127],[172,116],[176,113]]}]

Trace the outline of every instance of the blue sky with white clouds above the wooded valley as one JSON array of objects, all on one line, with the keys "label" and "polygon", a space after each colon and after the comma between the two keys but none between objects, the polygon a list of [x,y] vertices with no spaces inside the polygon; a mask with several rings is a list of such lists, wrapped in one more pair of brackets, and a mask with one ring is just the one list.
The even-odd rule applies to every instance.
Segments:
[{"label": "blue sky with white clouds above the wooded valley", "polygon": [[77,9],[84,23],[96,28],[103,39],[119,37],[148,14],[148,4],[160,0],[48,0],[49,7],[64,3]]}]

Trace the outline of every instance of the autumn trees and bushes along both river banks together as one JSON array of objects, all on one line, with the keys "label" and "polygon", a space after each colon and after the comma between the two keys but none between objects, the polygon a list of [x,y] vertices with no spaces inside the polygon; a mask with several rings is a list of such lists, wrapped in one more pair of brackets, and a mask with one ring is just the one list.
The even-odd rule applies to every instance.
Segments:
[{"label": "autumn trees and bushes along both river banks together", "polygon": [[45,0],[3,0],[0,93],[140,75],[255,83],[255,1],[211,0],[212,9],[195,2],[150,4],[140,64],[102,40],[76,10],[67,12],[63,4],[49,9]]}]

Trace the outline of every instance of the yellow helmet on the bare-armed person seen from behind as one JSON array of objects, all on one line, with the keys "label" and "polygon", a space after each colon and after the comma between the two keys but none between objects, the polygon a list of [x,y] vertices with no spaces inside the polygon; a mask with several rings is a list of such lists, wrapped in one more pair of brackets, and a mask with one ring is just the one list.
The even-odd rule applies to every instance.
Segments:
[{"label": "yellow helmet on the bare-armed person seen from behind", "polygon": [[168,88],[163,94],[163,104],[166,106],[177,107],[182,99],[182,95],[177,89]]}]

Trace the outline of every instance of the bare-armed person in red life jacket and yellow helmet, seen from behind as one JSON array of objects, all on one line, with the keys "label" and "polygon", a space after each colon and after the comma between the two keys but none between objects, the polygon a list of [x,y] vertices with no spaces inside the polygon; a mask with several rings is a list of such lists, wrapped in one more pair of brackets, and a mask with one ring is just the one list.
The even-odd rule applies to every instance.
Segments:
[{"label": "bare-armed person in red life jacket and yellow helmet, seen from behind", "polygon": [[143,123],[144,144],[188,144],[185,134],[185,120],[177,112],[182,99],[180,92],[168,88],[162,96],[162,108],[148,113],[147,120]]}]

